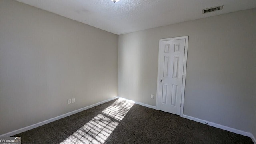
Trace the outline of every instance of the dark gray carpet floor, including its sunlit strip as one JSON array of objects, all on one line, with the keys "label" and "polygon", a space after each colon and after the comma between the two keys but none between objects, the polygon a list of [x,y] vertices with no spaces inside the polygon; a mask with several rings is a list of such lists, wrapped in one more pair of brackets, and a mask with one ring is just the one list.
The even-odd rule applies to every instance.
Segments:
[{"label": "dark gray carpet floor, including its sunlit strip", "polygon": [[113,100],[15,136],[22,144],[253,144],[174,114],[137,104],[129,110],[129,104]]}]

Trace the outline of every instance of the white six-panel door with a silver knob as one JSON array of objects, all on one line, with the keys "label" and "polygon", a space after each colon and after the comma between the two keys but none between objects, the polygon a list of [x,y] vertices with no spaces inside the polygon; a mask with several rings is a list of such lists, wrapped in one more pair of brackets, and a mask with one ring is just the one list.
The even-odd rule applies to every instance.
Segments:
[{"label": "white six-panel door with a silver knob", "polygon": [[186,39],[160,40],[158,110],[180,115]]}]

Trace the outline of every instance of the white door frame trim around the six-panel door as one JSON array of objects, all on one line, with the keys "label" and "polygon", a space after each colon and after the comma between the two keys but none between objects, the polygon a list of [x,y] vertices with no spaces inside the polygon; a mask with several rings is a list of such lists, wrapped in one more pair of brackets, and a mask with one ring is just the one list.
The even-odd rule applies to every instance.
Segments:
[{"label": "white door frame trim around the six-panel door", "polygon": [[175,38],[164,38],[159,40],[159,48],[158,48],[158,72],[157,72],[157,88],[156,88],[156,109],[158,108],[158,87],[159,87],[159,73],[160,73],[160,43],[167,40],[181,40],[185,39],[185,51],[184,51],[184,65],[183,65],[183,80],[182,80],[182,92],[181,92],[181,108],[180,108],[180,116],[183,117],[184,110],[184,94],[185,94],[185,82],[186,82],[186,68],[187,68],[187,57],[188,57],[188,36],[180,36]]}]

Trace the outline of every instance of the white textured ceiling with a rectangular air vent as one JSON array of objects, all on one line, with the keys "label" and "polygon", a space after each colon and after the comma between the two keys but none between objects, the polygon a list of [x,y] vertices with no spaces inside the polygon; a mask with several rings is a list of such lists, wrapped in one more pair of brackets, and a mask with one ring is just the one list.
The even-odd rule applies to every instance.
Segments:
[{"label": "white textured ceiling with a rectangular air vent", "polygon": [[[256,7],[256,0],[17,0],[114,34]],[[224,5],[202,14],[202,9]]]}]

